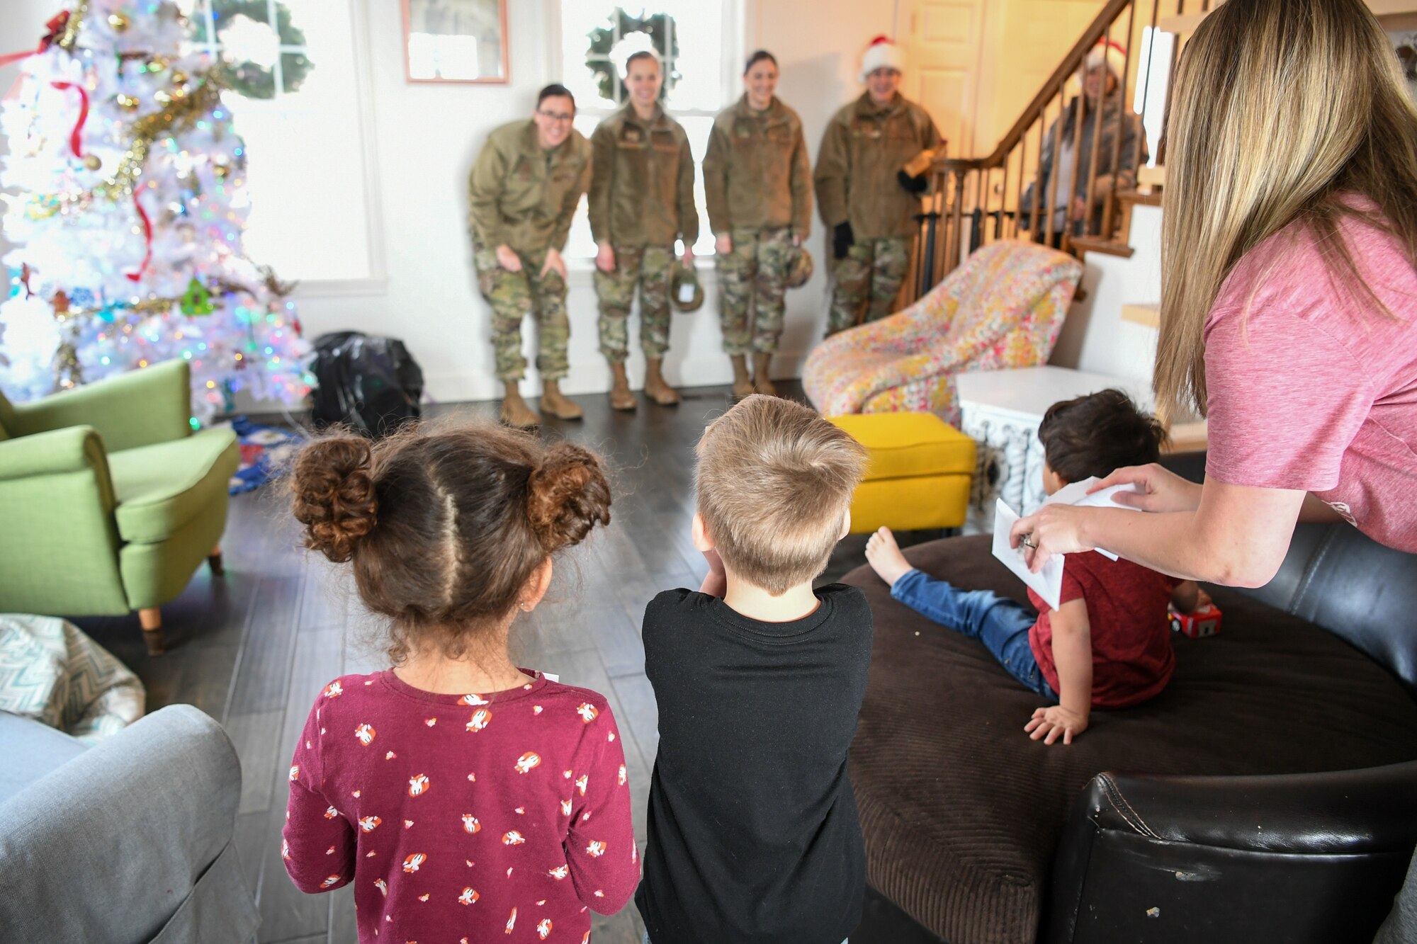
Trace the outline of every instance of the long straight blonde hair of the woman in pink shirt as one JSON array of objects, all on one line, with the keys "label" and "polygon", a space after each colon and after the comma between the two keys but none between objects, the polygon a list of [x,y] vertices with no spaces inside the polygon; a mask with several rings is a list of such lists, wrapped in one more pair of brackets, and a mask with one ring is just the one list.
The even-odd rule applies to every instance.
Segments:
[{"label": "long straight blonde hair of the woman in pink shirt", "polygon": [[1379,227],[1417,259],[1417,109],[1362,0],[1219,6],[1182,54],[1166,136],[1161,411],[1206,415],[1206,318],[1240,258],[1292,223],[1323,247],[1335,285],[1391,315],[1339,223]]}]

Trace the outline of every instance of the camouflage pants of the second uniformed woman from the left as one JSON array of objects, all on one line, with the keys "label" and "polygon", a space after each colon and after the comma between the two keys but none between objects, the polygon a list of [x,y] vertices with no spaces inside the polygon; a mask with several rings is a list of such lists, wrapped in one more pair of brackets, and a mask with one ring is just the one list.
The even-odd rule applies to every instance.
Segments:
[{"label": "camouflage pants of the second uniformed woman from the left", "polygon": [[669,350],[669,274],[674,262],[670,245],[616,245],[615,271],[595,269],[595,296],[601,300],[601,353],[612,364],[629,356],[629,308],[639,286],[639,346],[645,357],[660,359]]}]

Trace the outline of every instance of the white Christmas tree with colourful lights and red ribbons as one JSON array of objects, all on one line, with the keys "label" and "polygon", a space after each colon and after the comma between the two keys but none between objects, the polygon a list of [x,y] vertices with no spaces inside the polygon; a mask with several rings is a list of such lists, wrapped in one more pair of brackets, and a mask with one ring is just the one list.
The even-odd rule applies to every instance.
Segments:
[{"label": "white Christmas tree with colourful lights and red ribbons", "polygon": [[193,425],[239,390],[300,401],[313,377],[290,286],[241,251],[247,153],[220,62],[187,51],[166,0],[77,0],[47,26],[0,106],[16,247],[0,390],[28,400],[181,357]]}]

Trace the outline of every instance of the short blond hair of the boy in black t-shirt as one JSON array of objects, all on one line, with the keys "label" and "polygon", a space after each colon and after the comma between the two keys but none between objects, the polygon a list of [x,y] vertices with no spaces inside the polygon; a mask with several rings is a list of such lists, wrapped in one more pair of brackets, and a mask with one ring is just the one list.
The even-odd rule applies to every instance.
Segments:
[{"label": "short blond hair of the boy in black t-shirt", "polygon": [[735,575],[772,595],[826,570],[866,449],[802,404],[754,394],[704,429],[699,513]]}]

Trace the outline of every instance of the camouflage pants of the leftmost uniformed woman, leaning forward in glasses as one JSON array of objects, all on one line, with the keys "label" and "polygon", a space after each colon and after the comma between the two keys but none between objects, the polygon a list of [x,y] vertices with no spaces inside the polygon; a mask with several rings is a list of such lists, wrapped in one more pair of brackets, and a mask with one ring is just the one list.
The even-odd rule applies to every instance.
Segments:
[{"label": "camouflage pants of the leftmost uniformed woman, leaning forward in glasses", "polygon": [[565,316],[565,279],[557,271],[541,275],[546,249],[517,252],[520,272],[497,265],[497,254],[482,244],[472,247],[472,265],[478,288],[492,306],[492,349],[496,352],[497,380],[521,380],[527,359],[521,356],[521,319],[536,312],[536,369],[541,380],[565,377],[565,347],[571,340],[571,320]]}]

